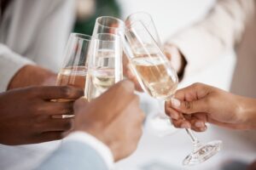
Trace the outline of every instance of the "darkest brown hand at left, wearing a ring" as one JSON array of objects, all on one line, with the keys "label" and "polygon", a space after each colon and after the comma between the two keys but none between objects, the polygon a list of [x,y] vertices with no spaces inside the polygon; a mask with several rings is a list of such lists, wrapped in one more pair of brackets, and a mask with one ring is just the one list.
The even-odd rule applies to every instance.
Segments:
[{"label": "darkest brown hand at left, wearing a ring", "polygon": [[17,88],[0,94],[0,143],[36,144],[61,139],[72,119],[52,116],[73,114],[73,102],[50,99],[78,99],[83,91],[72,87]]}]

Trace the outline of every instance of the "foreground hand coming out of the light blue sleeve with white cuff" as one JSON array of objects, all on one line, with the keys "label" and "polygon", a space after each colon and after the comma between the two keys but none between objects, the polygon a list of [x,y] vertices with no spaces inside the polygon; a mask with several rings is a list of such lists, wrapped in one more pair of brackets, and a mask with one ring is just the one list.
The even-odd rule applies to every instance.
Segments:
[{"label": "foreground hand coming out of the light blue sleeve with white cuff", "polygon": [[131,82],[115,84],[90,103],[86,99],[77,100],[74,111],[74,130],[90,133],[107,144],[115,161],[136,150],[144,114]]}]

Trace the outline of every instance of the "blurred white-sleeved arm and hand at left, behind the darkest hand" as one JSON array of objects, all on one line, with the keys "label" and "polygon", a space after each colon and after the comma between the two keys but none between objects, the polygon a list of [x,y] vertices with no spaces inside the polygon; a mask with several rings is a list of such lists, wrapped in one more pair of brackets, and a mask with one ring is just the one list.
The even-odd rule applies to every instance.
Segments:
[{"label": "blurred white-sleeved arm and hand at left, behind the darkest hand", "polygon": [[[55,73],[46,70],[0,43],[0,92],[11,88],[55,82]],[[51,80],[51,82],[48,82]]]}]

